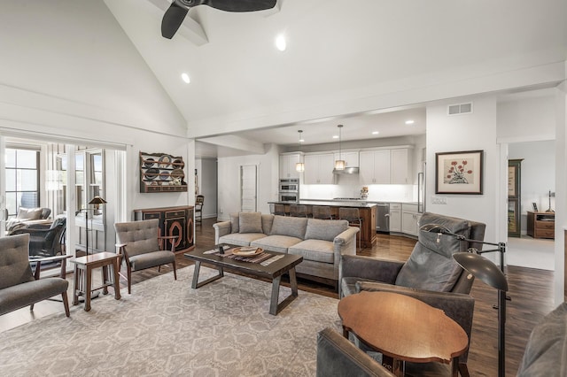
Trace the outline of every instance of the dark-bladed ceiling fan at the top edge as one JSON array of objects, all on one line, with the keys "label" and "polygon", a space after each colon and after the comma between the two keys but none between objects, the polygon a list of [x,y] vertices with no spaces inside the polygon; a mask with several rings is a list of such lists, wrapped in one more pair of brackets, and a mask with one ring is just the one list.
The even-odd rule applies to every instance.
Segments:
[{"label": "dark-bladed ceiling fan at the top edge", "polygon": [[190,8],[208,5],[225,12],[256,12],[276,6],[276,0],[174,0],[161,20],[161,35],[171,39]]}]

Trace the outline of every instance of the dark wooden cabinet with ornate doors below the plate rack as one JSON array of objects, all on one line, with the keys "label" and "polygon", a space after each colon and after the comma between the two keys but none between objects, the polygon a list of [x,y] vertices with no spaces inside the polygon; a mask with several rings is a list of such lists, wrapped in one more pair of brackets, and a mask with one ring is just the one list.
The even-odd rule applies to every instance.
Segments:
[{"label": "dark wooden cabinet with ornate doors below the plate rack", "polygon": [[134,219],[159,219],[159,235],[177,235],[173,240],[167,240],[162,249],[171,249],[171,242],[175,242],[175,254],[187,252],[195,248],[194,223],[192,206],[144,208],[134,210]]}]

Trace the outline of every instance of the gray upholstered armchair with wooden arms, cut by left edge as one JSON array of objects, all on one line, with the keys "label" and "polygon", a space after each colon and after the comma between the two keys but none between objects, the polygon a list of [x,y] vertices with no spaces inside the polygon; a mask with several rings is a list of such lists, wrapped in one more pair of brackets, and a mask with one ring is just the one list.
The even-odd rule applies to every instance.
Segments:
[{"label": "gray upholstered armchair with wooden arms, cut by left edge", "polygon": [[[69,317],[69,303],[65,280],[65,261],[68,256],[37,258],[35,274],[29,265],[29,235],[10,235],[0,238],[0,315],[15,311],[61,295],[66,316]],[[43,261],[61,260],[60,277],[39,278]]]}]

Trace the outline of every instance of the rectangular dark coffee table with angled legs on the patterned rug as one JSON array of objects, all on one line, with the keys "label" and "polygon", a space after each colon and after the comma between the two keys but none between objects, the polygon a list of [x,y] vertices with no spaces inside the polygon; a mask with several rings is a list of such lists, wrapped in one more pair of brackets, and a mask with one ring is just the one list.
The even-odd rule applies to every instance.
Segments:
[{"label": "rectangular dark coffee table with angled legs on the patterned rug", "polygon": [[[230,248],[230,246],[229,246]],[[229,249],[225,248],[225,250]],[[192,250],[183,254],[185,257],[195,261],[195,272],[193,273],[193,281],[191,282],[192,289],[198,289],[211,281],[216,281],[224,276],[224,269],[237,271],[240,273],[247,273],[253,276],[260,276],[271,279],[272,281],[272,296],[269,304],[269,313],[276,315],[282,309],[291,303],[298,296],[298,281],[295,276],[295,266],[299,265],[303,257],[299,255],[283,254],[274,251],[265,251],[268,254],[277,257],[278,259],[269,265],[260,265],[260,263],[241,262],[227,257],[221,257],[215,254],[205,254],[206,251]],[[273,258],[273,257],[272,257]],[[268,259],[269,260],[269,259]],[[198,273],[201,263],[214,265],[219,273],[205,281],[198,281]],[[281,303],[278,304],[278,297],[280,293],[280,281],[283,273],[290,274],[291,295],[287,296]]]}]

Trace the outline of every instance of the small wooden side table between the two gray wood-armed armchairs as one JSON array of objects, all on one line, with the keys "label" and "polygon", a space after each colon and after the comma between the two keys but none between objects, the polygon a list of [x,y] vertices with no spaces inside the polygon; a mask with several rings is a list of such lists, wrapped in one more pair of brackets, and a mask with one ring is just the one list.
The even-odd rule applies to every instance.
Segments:
[{"label": "small wooden side table between the two gray wood-armed armchairs", "polygon": [[[103,289],[103,294],[108,294],[108,287],[114,287],[114,298],[120,300],[120,281],[118,267],[120,255],[112,252],[101,252],[87,255],[85,257],[73,258],[74,280],[73,280],[73,304],[79,304],[79,296],[85,297],[85,312],[90,310],[90,294],[93,290]],[[102,267],[102,285],[92,288],[92,270]],[[111,267],[109,271],[109,268]]]}]

